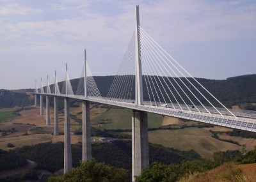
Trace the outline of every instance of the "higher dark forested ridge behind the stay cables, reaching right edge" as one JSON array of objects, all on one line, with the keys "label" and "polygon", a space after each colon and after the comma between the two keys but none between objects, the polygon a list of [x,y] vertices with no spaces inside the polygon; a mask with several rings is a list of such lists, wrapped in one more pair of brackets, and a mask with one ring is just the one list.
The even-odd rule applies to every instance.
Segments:
[{"label": "higher dark forested ridge behind the stay cables, reaching right edge", "polygon": [[[115,76],[96,76],[93,78],[95,79],[95,82],[99,88],[101,96],[104,96],[104,97],[107,96],[109,88],[111,87],[111,84],[115,79]],[[166,77],[164,79],[167,80]],[[145,77],[143,77],[143,80],[145,80]],[[185,89],[185,86],[181,84],[179,79],[175,78],[175,80],[177,83],[180,84],[182,89]],[[181,78],[181,80],[185,83],[187,82],[186,79],[184,78]],[[198,86],[195,80],[191,78],[188,78],[188,80]],[[208,91],[210,91],[212,95],[214,95],[218,100],[220,100],[220,102],[222,102],[227,107],[231,107],[232,105],[240,105],[242,103],[256,102],[256,94],[255,94],[256,93],[256,74],[231,77],[226,80],[210,80],[210,79],[200,79],[200,78],[196,78],[196,80],[198,80],[198,82],[200,82],[202,86],[204,86]],[[71,84],[72,84],[74,93],[76,93],[77,85],[79,84],[79,79],[71,80]],[[62,88],[62,86],[63,86],[63,82],[60,83],[60,89]],[[179,93],[182,93],[181,89],[179,89],[178,86],[176,87]],[[168,88],[166,87],[166,89]],[[192,91],[195,90],[193,87],[190,87],[190,89]],[[204,91],[204,89],[202,89],[202,87],[200,87],[199,89],[205,96],[208,95]],[[144,100],[149,100],[145,81],[143,81],[143,91],[144,91],[143,93]],[[133,94],[131,95],[131,98],[134,99],[134,93],[135,93],[134,87],[133,87],[132,93]],[[179,96],[175,94],[175,92],[173,93],[175,97],[179,98]],[[188,92],[187,95],[193,98],[191,93]],[[197,94],[196,96],[200,98],[200,94]],[[170,97],[172,98],[172,96]],[[188,100],[186,100],[186,96],[184,96],[184,98],[185,98],[185,101],[188,102]],[[218,103],[216,103],[214,99],[212,99],[211,97],[208,97],[208,99],[211,102],[213,102],[216,106],[218,106]],[[179,100],[179,102],[181,102],[181,100]],[[193,102],[198,103],[196,100],[193,100]],[[205,103],[204,101],[202,102]],[[207,105],[207,103],[205,104]],[[243,109],[254,110],[255,107],[253,107],[252,105],[246,105],[246,107],[244,107]]]}]

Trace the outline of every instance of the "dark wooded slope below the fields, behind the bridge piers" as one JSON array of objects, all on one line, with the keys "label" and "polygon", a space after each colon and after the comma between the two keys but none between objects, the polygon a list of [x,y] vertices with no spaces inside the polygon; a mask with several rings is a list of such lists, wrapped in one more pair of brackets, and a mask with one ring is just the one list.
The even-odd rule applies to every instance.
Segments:
[{"label": "dark wooded slope below the fields, behind the bridge piers", "polygon": [[[129,179],[131,179],[131,151],[131,141],[116,140],[113,142],[99,142],[92,144],[92,156],[93,158],[95,158],[95,160],[97,160],[97,162],[104,162],[114,167],[126,169],[127,171],[129,171]],[[47,142],[42,144],[36,144],[33,146],[24,146],[22,148],[14,149],[13,151],[4,151],[0,153],[0,157],[3,159],[8,158],[10,155],[15,155],[15,158],[18,159],[28,158],[29,160],[36,162],[36,170],[43,169],[50,172],[55,172],[63,168],[63,152],[63,142]],[[81,158],[82,146],[80,144],[72,145],[73,167],[79,166],[79,161],[81,160]],[[201,160],[201,157],[193,150],[179,151],[178,149],[164,148],[163,146],[158,146],[154,144],[149,145],[150,163],[182,163],[195,159]],[[8,163],[6,163],[4,167],[5,166],[8,167],[6,167],[6,169],[15,168],[12,163],[10,163],[10,166],[8,165]],[[1,180],[2,179],[0,178],[0,181]]]}]

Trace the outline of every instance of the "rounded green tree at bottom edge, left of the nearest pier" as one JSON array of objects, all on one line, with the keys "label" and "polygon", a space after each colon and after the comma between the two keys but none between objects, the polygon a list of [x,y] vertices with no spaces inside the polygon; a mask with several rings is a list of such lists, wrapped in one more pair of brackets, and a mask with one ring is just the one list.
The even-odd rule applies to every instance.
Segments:
[{"label": "rounded green tree at bottom edge, left of the nearest pier", "polygon": [[95,159],[81,162],[79,167],[61,176],[49,178],[49,182],[62,181],[99,181],[99,182],[122,182],[127,181],[128,171],[111,167],[105,163],[97,163]]}]

